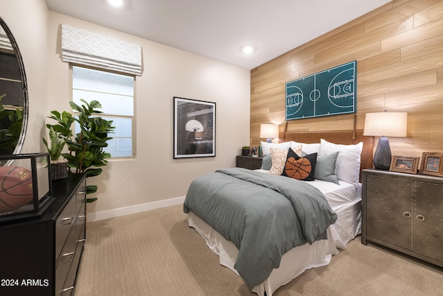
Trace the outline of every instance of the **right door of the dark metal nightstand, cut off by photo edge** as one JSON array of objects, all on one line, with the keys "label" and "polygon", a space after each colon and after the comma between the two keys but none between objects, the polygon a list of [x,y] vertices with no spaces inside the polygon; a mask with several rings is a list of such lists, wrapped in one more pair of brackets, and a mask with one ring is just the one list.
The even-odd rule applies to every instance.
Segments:
[{"label": "right door of the dark metal nightstand, cut off by photo edge", "polygon": [[415,252],[443,262],[443,184],[415,182]]}]

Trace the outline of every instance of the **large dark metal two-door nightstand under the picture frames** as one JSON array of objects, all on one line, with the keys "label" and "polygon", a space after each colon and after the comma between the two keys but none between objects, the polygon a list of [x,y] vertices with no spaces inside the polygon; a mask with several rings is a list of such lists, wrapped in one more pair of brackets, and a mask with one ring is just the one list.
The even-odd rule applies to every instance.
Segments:
[{"label": "large dark metal two-door nightstand under the picture frames", "polygon": [[443,267],[443,178],[363,170],[361,243]]}]

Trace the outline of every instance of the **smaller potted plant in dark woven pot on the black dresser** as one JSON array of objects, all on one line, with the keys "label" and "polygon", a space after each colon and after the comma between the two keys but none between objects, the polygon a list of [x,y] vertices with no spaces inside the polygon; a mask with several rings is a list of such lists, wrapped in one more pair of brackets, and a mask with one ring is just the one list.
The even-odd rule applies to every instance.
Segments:
[{"label": "smaller potted plant in dark woven pot on the black dresser", "polygon": [[66,141],[71,139],[72,131],[71,125],[74,122],[73,116],[69,112],[57,112],[51,111],[50,119],[57,121],[57,124],[46,124],[46,128],[49,130],[49,140],[42,138],[46,150],[48,150],[49,158],[51,161],[51,179],[62,180],[66,179],[68,174],[68,160],[62,157],[62,150],[66,145]]}]

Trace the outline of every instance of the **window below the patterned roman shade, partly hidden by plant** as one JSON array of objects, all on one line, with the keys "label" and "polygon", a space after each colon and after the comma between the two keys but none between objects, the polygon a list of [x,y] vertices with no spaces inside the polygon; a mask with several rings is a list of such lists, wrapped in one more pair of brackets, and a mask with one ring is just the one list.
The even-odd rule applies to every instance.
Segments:
[{"label": "window below the patterned roman shade, partly hidden by plant", "polygon": [[[72,67],[72,98],[77,105],[82,105],[83,99],[88,103],[98,101],[102,105],[103,119],[113,121],[116,127],[108,146],[107,153],[112,158],[132,157],[133,155],[133,125],[134,125],[134,76]],[[75,112],[74,112],[75,114]],[[75,133],[80,127],[75,126]]]}]

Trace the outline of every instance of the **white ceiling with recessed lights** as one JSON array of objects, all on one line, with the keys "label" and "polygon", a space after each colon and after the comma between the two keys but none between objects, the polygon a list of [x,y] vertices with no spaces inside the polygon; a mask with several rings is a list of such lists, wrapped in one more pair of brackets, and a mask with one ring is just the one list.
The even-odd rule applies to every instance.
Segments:
[{"label": "white ceiling with recessed lights", "polygon": [[[391,0],[46,0],[48,8],[253,69]],[[242,53],[244,45],[256,51]]]}]

